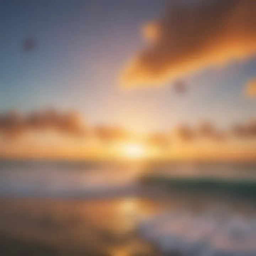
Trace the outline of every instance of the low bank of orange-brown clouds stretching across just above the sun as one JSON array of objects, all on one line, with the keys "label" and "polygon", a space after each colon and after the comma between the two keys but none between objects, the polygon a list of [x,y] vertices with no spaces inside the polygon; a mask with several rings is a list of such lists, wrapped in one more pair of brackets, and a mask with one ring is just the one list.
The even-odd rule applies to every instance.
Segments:
[{"label": "low bank of orange-brown clouds stretching across just above the sun", "polygon": [[[97,139],[107,144],[138,140],[138,134],[119,126],[85,125],[83,118],[76,111],[48,109],[24,114],[18,111],[0,113],[0,134],[5,138],[15,139],[29,132],[47,131]],[[198,122],[195,126],[180,123],[171,128],[170,132],[155,131],[139,137],[142,143],[159,148],[168,148],[175,139],[190,142],[199,139],[221,141],[229,138],[256,138],[256,119],[231,124],[226,129],[217,129],[215,124],[209,121]]]}]

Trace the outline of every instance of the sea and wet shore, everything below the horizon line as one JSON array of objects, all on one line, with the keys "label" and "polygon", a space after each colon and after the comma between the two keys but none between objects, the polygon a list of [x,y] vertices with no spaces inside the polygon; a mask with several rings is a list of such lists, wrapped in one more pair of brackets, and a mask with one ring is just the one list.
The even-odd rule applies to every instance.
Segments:
[{"label": "sea and wet shore, everything below the horizon line", "polygon": [[256,164],[0,161],[0,255],[256,255]]}]

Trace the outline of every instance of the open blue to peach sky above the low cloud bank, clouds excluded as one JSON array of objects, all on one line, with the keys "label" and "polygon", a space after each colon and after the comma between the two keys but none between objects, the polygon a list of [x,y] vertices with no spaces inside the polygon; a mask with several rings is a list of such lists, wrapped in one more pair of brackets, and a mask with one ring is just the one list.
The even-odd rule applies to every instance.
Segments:
[{"label": "open blue to peach sky above the low cloud bank, clouds excluded", "polygon": [[[192,1],[192,0],[191,0]],[[2,0],[0,3],[0,111],[47,107],[76,110],[90,124],[117,124],[138,132],[169,130],[209,120],[219,127],[255,117],[244,95],[256,58],[202,68],[172,82],[125,89],[118,77],[143,48],[142,26],[162,15],[166,0]],[[37,46],[26,52],[22,44]]]}]

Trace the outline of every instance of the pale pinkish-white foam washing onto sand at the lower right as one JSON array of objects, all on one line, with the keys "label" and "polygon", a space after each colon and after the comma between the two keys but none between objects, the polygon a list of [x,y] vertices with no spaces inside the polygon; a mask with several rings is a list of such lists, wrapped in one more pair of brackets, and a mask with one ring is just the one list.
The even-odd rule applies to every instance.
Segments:
[{"label": "pale pinkish-white foam washing onto sand at the lower right", "polygon": [[139,233],[165,253],[256,255],[256,217],[165,212],[143,220],[139,224]]}]

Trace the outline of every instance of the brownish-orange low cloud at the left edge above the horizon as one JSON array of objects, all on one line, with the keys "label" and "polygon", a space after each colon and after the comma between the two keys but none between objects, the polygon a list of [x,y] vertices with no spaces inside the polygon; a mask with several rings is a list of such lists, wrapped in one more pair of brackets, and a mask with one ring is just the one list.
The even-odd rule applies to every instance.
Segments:
[{"label": "brownish-orange low cloud at the left edge above the horizon", "polygon": [[16,138],[33,130],[54,130],[72,135],[83,135],[86,131],[82,118],[75,111],[49,109],[23,115],[18,111],[0,114],[0,133],[7,138]]}]

